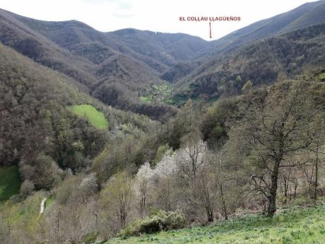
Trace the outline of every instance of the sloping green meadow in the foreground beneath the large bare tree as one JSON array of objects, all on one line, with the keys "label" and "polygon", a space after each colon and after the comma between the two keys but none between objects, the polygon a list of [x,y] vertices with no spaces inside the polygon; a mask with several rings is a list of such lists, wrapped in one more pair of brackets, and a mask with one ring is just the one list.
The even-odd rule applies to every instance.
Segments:
[{"label": "sloping green meadow in the foreground beneath the large bare tree", "polygon": [[266,216],[247,216],[220,221],[212,226],[161,232],[128,239],[115,238],[117,243],[324,243],[325,206],[290,209]]}]

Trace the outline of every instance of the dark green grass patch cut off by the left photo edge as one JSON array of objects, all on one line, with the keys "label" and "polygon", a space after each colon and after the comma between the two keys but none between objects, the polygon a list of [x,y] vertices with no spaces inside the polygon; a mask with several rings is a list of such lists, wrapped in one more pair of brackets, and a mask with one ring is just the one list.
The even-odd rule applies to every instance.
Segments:
[{"label": "dark green grass patch cut off by the left photo edge", "polygon": [[0,167],[0,202],[17,194],[20,188],[20,177],[18,166]]}]

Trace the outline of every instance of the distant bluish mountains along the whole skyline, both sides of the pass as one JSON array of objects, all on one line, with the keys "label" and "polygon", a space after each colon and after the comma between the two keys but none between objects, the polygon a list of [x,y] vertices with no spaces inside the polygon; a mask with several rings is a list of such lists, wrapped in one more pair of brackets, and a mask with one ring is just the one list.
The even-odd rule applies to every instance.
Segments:
[{"label": "distant bluish mountains along the whole skyline, both sides of the pass", "polygon": [[[318,14],[317,17],[314,17],[314,12]],[[315,37],[310,37],[310,40],[293,40],[289,36],[295,35],[294,38],[297,38],[299,31],[295,32],[296,30],[302,29],[302,26],[306,28],[306,25],[316,26],[325,21],[324,16],[324,0],[307,3],[208,42],[183,33],[159,33],[134,28],[104,33],[80,21],[37,21],[0,10],[0,18],[3,20],[0,25],[0,40],[34,61],[83,83],[93,95],[105,103],[138,111],[137,104],[142,103],[139,98],[150,94],[153,86],[164,83],[172,88],[174,92],[171,98],[176,100],[177,97],[182,98],[181,100],[196,98],[206,92],[208,96],[214,94],[213,96],[218,97],[220,93],[217,91],[229,90],[228,88],[231,93],[239,91],[234,84],[231,85],[236,79],[233,76],[249,71],[235,68],[228,63],[231,60],[234,62],[236,54],[242,55],[241,53],[246,52],[238,57],[243,63],[251,62],[249,65],[252,66],[255,62],[252,55],[258,51],[251,48],[254,45],[264,45],[268,52],[275,52],[276,48],[278,52],[267,55],[271,60],[268,65],[273,68],[260,67],[266,74],[264,81],[242,74],[245,82],[254,79],[255,84],[262,84],[276,81],[279,74],[288,76],[288,72],[292,73],[293,69],[297,69],[295,66],[302,67],[305,63],[307,65],[307,59],[295,60],[301,55],[293,49],[303,50],[307,45],[318,48],[319,52],[323,49],[321,33],[317,34],[319,43]],[[312,31],[310,29],[306,33],[306,30],[301,30],[301,33],[307,37]],[[266,47],[267,45],[271,46]],[[287,59],[287,51],[281,51],[284,48],[281,45],[290,47],[290,55],[293,57],[284,61]],[[280,59],[277,55],[280,55]],[[261,62],[255,65],[259,64]],[[254,70],[254,67],[249,69]],[[233,75],[230,76],[229,72]],[[219,87],[220,82],[228,88]],[[240,84],[242,85],[244,84]],[[141,104],[142,106],[146,107],[148,104]],[[143,109],[141,111],[145,112]]]}]

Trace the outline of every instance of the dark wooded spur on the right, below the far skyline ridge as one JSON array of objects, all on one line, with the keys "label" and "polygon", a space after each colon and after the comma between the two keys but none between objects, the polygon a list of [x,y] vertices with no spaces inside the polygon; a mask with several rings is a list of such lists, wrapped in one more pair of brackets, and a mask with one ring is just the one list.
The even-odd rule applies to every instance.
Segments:
[{"label": "dark wooded spur on the right, below the far skyline ridge", "polygon": [[290,79],[309,69],[324,67],[325,23],[269,37],[227,54],[217,55],[176,84],[174,100],[223,93],[240,94],[251,86]]}]

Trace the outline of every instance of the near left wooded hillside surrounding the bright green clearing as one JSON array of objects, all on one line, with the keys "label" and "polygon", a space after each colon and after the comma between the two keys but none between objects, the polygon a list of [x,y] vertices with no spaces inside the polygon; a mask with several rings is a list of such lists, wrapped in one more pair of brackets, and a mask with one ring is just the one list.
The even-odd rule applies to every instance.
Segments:
[{"label": "near left wooded hillside surrounding the bright green clearing", "polygon": [[[67,76],[35,64],[3,45],[0,58],[0,162],[19,164],[23,179],[35,183],[37,189],[51,188],[60,168],[73,172],[90,168],[91,159],[102,151],[110,136],[119,134],[121,124],[140,130],[150,126],[145,117],[105,107],[83,93],[82,87],[74,86],[75,81]],[[69,110],[72,105],[81,104],[101,111],[107,120],[104,130],[96,129],[91,120],[78,118]],[[143,125],[138,125],[137,120],[144,120]]]}]

